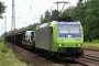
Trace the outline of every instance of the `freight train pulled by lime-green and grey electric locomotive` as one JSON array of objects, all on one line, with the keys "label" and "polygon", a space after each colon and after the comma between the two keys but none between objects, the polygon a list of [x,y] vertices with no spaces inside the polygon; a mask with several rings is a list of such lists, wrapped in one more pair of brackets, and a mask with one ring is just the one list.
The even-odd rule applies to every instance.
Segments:
[{"label": "freight train pulled by lime-green and grey electric locomotive", "polygon": [[6,36],[7,42],[11,40],[45,55],[54,55],[58,59],[77,59],[84,54],[84,31],[78,21],[43,23],[35,31],[23,31],[14,36]]}]

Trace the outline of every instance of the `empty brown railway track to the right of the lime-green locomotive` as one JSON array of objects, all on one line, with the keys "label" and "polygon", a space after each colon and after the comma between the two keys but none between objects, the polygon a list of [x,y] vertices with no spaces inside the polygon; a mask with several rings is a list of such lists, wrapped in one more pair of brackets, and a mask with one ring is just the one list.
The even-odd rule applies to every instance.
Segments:
[{"label": "empty brown railway track to the right of the lime-green locomotive", "polygon": [[99,66],[99,51],[85,48],[84,56],[77,62],[87,64],[88,66]]}]

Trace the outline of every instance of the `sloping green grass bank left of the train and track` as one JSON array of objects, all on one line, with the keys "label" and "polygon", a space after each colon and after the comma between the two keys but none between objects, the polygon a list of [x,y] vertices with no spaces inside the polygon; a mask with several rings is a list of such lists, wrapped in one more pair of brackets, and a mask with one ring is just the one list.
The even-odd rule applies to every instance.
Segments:
[{"label": "sloping green grass bank left of the train and track", "polygon": [[2,40],[0,40],[0,66],[33,66],[26,59],[13,54],[12,50],[7,47]]}]

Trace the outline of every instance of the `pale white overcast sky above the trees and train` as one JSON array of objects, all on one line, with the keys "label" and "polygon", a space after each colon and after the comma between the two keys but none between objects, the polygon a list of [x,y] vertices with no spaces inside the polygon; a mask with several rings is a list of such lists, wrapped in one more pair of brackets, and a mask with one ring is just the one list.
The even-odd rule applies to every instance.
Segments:
[{"label": "pale white overcast sky above the trees and train", "polygon": [[[7,12],[3,16],[7,15],[7,31],[11,31],[11,16],[12,16],[12,0],[1,0],[6,3]],[[40,16],[46,10],[51,11],[56,9],[57,6],[53,4],[56,1],[64,1],[64,0],[14,0],[15,3],[15,29],[21,29],[23,26],[28,26],[33,23],[40,22]],[[65,0],[68,1],[70,4],[66,4],[65,8],[69,6],[76,6],[78,0]],[[59,10],[62,9],[63,4],[59,4]],[[64,9],[65,9],[64,8]],[[0,35],[4,32],[4,19],[0,19]]]}]

